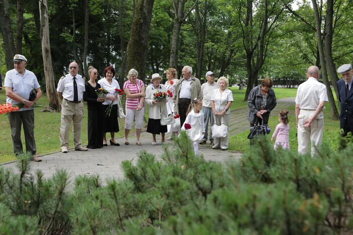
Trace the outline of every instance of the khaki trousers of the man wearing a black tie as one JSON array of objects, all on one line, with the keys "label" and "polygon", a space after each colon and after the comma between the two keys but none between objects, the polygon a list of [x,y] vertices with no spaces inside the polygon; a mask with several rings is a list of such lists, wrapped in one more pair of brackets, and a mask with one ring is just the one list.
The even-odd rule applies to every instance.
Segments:
[{"label": "khaki trousers of the man wearing a black tie", "polygon": [[60,147],[68,147],[68,133],[73,122],[72,135],[73,144],[76,147],[81,145],[81,126],[83,119],[83,102],[73,103],[66,99],[61,103],[61,124],[60,124]]}]

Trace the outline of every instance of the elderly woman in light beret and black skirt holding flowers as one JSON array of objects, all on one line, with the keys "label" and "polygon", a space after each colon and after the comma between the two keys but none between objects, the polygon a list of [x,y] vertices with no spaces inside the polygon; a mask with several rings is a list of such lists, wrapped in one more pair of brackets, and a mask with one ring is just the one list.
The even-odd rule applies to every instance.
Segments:
[{"label": "elderly woman in light beret and black skirt holding flowers", "polygon": [[161,143],[165,144],[165,133],[167,132],[166,125],[160,125],[161,113],[166,115],[168,113],[166,100],[165,101],[156,101],[154,100],[153,94],[155,92],[166,92],[167,89],[164,85],[160,84],[161,77],[158,73],[152,74],[151,83],[146,88],[145,102],[149,105],[148,112],[148,124],[147,132],[152,134],[152,145],[157,145],[156,135],[161,134],[162,140]]}]

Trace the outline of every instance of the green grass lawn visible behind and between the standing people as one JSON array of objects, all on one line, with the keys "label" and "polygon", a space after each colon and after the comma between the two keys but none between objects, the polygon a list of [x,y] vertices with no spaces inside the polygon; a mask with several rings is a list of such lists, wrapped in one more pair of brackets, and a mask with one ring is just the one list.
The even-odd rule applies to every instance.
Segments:
[{"label": "green grass lawn visible behind and between the standing people", "polygon": [[[232,103],[231,109],[238,109],[247,106],[247,102],[244,100],[244,90],[239,90],[236,87],[230,88],[233,92],[234,102]],[[297,89],[285,89],[285,88],[275,88],[276,96],[278,99],[285,98],[285,97],[294,97],[296,95]],[[5,103],[6,96],[5,90],[0,90],[0,103]],[[48,105],[47,97],[44,95],[42,98],[39,99],[37,104],[46,106]],[[338,122],[333,122],[329,120],[330,111],[329,105],[326,104],[328,107],[325,112],[325,133],[324,133],[324,141],[328,141],[332,143],[332,146],[336,146],[336,133],[338,133]],[[52,153],[56,151],[60,151],[60,140],[59,140],[59,133],[60,133],[60,113],[59,112],[41,112],[43,108],[38,107],[35,108],[35,138],[37,144],[37,154],[46,154]],[[294,107],[290,108],[291,114],[291,148],[294,149],[297,146],[296,138],[295,138],[295,119],[294,119]],[[273,118],[270,120],[270,126],[274,129],[278,123],[277,114],[273,114]],[[148,105],[146,106],[146,113],[145,118],[148,120]],[[10,124],[7,115],[0,115],[0,163],[15,160],[13,154],[13,145],[11,140],[11,132],[10,132]],[[117,133],[116,137],[121,138],[124,136],[124,123],[123,120],[119,119],[119,128],[120,132]],[[131,133],[134,133],[135,130],[131,130]],[[241,133],[239,135],[233,136],[230,138],[229,141],[229,149],[239,152],[245,152],[248,150],[248,141],[246,139],[248,132]],[[109,134],[107,135],[109,138]],[[22,140],[23,146],[25,147],[24,143],[24,136],[22,133]],[[69,135],[69,143],[70,147],[72,147],[72,134]],[[84,118],[83,118],[83,125],[82,125],[82,135],[81,135],[82,144],[87,144],[87,106],[84,106]]]}]

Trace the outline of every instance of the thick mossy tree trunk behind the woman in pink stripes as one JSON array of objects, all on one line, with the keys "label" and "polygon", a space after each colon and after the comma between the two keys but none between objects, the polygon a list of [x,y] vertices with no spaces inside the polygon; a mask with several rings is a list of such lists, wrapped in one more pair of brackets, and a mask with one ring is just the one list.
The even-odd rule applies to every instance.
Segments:
[{"label": "thick mossy tree trunk behind the woman in pink stripes", "polygon": [[138,77],[145,80],[147,41],[152,19],[154,0],[137,0],[127,47],[127,70],[134,68]]}]

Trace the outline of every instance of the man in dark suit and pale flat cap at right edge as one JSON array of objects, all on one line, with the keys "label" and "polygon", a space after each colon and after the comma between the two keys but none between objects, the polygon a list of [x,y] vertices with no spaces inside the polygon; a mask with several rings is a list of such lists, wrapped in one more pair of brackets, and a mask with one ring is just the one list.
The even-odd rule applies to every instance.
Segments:
[{"label": "man in dark suit and pale flat cap at right edge", "polygon": [[343,129],[342,136],[346,136],[348,132],[353,133],[353,89],[352,76],[353,70],[351,64],[343,64],[337,69],[342,79],[336,84],[338,88],[338,100],[340,104],[340,129]]}]

